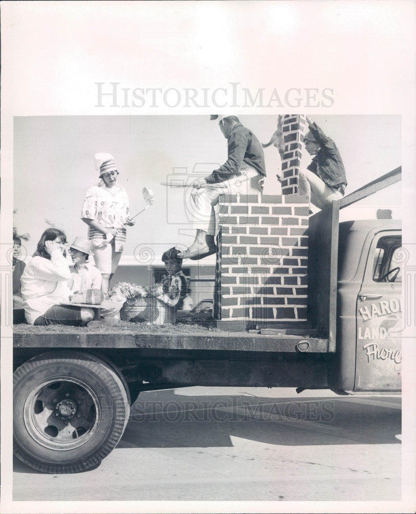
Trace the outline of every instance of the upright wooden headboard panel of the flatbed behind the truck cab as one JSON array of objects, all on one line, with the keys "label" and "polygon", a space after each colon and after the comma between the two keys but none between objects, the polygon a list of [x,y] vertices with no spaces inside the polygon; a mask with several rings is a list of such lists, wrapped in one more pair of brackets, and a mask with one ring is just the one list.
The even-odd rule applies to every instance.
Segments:
[{"label": "upright wooden headboard panel of the flatbed behind the truck cab", "polygon": [[309,218],[308,320],[335,352],[339,201]]}]

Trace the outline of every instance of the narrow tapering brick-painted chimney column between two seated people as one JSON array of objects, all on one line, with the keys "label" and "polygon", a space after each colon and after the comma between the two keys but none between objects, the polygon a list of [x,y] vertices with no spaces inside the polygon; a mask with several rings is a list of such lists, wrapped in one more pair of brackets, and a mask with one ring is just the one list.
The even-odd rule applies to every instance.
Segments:
[{"label": "narrow tapering brick-painted chimney column between two seated people", "polygon": [[283,116],[282,132],[285,140],[285,154],[281,163],[281,191],[284,195],[297,193],[297,175],[306,125],[305,116],[290,114]]}]

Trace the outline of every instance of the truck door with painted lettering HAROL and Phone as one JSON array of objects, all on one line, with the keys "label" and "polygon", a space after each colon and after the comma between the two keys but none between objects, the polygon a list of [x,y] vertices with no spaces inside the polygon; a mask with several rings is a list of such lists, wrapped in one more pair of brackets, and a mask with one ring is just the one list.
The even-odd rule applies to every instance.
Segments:
[{"label": "truck door with painted lettering HAROL and Phone", "polygon": [[400,391],[400,231],[377,233],[357,298],[354,391]]}]

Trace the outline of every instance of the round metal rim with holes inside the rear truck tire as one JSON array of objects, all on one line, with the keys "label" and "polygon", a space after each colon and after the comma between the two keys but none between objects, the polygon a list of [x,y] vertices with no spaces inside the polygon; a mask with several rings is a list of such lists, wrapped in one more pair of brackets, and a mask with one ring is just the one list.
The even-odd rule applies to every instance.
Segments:
[{"label": "round metal rim with holes inside the rear truck tire", "polygon": [[39,384],[28,395],[23,410],[30,436],[45,448],[58,451],[87,443],[100,416],[97,396],[85,383],[71,377]]}]

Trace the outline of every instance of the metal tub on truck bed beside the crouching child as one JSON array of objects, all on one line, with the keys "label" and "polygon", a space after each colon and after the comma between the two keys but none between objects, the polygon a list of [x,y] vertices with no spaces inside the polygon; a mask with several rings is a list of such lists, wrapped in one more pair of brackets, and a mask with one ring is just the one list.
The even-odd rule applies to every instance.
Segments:
[{"label": "metal tub on truck bed beside the crouching child", "polygon": [[129,298],[120,310],[120,318],[155,325],[175,323],[176,307],[166,305],[157,298]]}]

